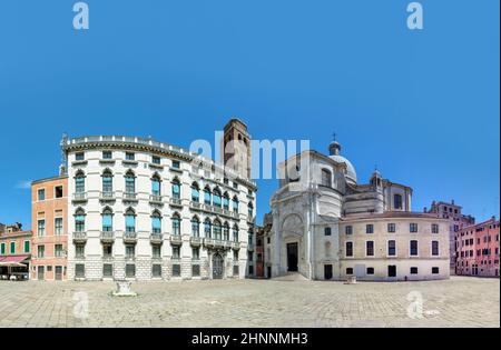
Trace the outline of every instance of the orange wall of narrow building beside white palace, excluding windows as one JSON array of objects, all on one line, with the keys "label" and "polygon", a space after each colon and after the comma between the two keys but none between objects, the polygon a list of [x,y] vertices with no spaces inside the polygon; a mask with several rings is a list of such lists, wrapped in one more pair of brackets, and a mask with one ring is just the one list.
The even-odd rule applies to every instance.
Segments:
[{"label": "orange wall of narrow building beside white palace, excluding windows", "polygon": [[[62,193],[56,197],[56,188],[62,187]],[[39,190],[45,190],[45,199],[39,199]],[[62,220],[62,231],[56,232],[56,218]],[[39,231],[38,222],[45,220],[45,230]],[[56,280],[56,271],[60,279],[67,279],[68,251],[68,178],[58,177],[35,181],[31,186],[31,222],[33,231],[31,279]],[[62,246],[58,256],[56,246]],[[39,247],[45,247],[43,257],[38,254]],[[39,273],[40,269],[43,274]]]}]

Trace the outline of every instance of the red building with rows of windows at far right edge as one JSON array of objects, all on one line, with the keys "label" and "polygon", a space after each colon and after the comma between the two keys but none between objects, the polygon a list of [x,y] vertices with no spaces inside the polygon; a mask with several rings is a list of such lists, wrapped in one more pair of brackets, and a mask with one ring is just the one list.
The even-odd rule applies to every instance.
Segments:
[{"label": "red building with rows of windows at far right edge", "polygon": [[499,220],[462,228],[456,234],[455,273],[499,277]]}]

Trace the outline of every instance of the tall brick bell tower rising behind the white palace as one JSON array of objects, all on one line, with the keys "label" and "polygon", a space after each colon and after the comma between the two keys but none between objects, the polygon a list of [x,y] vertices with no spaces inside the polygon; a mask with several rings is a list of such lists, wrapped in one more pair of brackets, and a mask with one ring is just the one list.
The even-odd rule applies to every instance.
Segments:
[{"label": "tall brick bell tower rising behind the white palace", "polygon": [[225,167],[245,179],[250,179],[250,136],[247,124],[242,120],[233,118],[225,126],[222,153]]}]

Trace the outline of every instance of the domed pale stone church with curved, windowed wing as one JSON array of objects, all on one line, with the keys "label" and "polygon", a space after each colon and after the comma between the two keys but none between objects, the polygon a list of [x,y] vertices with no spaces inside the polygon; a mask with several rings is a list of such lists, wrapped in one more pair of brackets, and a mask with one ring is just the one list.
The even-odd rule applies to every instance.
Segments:
[{"label": "domed pale stone church with curved, windowed wing", "polygon": [[355,168],[340,153],[334,141],[330,156],[305,151],[279,164],[266,277],[449,278],[448,221],[413,212],[413,190],[379,171],[358,184]]}]

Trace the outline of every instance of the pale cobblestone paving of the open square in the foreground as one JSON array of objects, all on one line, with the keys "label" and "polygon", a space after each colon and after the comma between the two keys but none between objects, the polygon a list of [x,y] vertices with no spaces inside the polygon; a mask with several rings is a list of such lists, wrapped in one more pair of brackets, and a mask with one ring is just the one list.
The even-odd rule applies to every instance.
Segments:
[{"label": "pale cobblestone paving of the open square in the foreground", "polygon": [[[500,327],[499,279],[136,282],[135,298],[111,297],[114,289],[2,281],[0,327]],[[422,318],[412,319],[407,297],[420,294]]]}]

